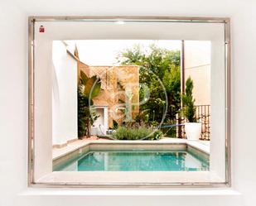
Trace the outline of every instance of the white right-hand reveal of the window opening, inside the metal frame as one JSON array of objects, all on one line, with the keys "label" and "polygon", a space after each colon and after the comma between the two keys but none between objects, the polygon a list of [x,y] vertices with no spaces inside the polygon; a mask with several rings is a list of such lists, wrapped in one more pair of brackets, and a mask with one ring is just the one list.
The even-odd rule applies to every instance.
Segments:
[{"label": "white right-hand reveal of the window opening, inside the metal frame", "polygon": [[211,41],[211,51],[210,169],[225,180],[225,43]]}]

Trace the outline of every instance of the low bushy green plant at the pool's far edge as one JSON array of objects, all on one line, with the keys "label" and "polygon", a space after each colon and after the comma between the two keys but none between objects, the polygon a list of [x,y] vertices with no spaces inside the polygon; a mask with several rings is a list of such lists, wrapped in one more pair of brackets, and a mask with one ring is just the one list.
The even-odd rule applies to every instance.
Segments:
[{"label": "low bushy green plant at the pool's far edge", "polygon": [[117,140],[158,140],[162,138],[161,131],[154,131],[152,128],[128,128],[119,127],[113,134]]}]

